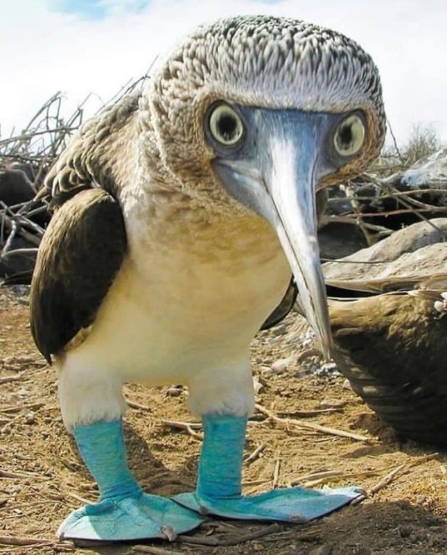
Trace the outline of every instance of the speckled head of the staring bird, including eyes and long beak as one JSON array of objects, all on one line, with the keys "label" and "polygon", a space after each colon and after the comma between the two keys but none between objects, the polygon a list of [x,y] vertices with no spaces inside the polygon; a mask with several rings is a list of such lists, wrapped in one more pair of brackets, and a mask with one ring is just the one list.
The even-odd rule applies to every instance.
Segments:
[{"label": "speckled head of the staring bird, including eyes and long beak", "polygon": [[370,56],[339,33],[297,20],[223,19],[164,60],[141,102],[161,162],[184,189],[271,223],[328,355],[315,199],[322,187],[358,175],[383,146]]}]

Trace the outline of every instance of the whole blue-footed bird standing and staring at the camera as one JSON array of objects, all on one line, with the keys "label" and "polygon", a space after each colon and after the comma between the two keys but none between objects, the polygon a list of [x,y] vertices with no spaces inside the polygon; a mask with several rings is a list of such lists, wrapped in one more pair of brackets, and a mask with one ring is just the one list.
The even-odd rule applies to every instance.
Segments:
[{"label": "whole blue-footed bird standing and staring at the camera", "polygon": [[[173,538],[206,515],[302,522],[359,495],[243,495],[249,343],[293,275],[329,356],[319,191],[361,173],[384,137],[371,56],[266,15],[202,24],[73,136],[46,178],[54,214],[30,291],[35,343],[55,363],[64,425],[100,494],[61,538]],[[166,499],[137,484],[125,382],[187,386],[204,430],[193,492]]]}]

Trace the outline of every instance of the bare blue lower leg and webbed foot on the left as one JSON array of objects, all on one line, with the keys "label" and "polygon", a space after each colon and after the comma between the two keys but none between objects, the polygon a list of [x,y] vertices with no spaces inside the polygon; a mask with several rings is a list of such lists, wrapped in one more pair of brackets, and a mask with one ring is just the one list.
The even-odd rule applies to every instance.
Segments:
[{"label": "bare blue lower leg and webbed foot on the left", "polygon": [[170,499],[143,493],[128,468],[121,420],[76,427],[73,434],[100,499],[73,511],[60,525],[60,538],[173,539],[203,522]]}]

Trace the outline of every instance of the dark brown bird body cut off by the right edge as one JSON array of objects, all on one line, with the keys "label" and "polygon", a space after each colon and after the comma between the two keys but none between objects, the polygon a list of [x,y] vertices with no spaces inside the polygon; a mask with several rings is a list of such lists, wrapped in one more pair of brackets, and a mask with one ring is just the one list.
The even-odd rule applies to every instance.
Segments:
[{"label": "dark brown bird body cut off by the right edge", "polygon": [[419,287],[330,300],[333,359],[398,436],[445,445],[446,275],[444,291]]}]

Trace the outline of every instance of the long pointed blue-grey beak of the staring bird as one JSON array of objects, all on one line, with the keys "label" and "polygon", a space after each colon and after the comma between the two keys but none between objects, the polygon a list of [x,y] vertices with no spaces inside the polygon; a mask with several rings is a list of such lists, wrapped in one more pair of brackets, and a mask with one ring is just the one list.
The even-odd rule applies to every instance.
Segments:
[{"label": "long pointed blue-grey beak of the staring bird", "polygon": [[326,359],[332,337],[317,241],[317,179],[328,127],[326,114],[258,110],[256,148],[216,170],[232,196],[268,219],[284,250],[299,302]]}]

